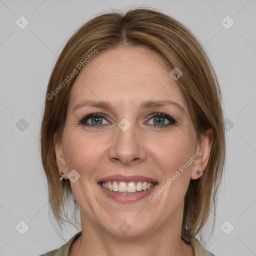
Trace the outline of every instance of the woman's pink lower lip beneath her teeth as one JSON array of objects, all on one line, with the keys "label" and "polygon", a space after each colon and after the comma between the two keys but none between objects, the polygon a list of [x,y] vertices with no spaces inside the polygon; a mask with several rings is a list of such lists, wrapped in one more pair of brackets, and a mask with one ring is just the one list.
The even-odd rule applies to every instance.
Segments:
[{"label": "woman's pink lower lip beneath her teeth", "polygon": [[114,199],[116,202],[135,202],[138,201],[147,195],[149,195],[154,188],[157,186],[157,184],[153,185],[151,188],[139,191],[135,194],[119,194],[117,192],[110,191],[106,188],[104,188],[101,183],[99,182],[98,185],[100,186],[103,193],[105,193],[108,197]]}]

